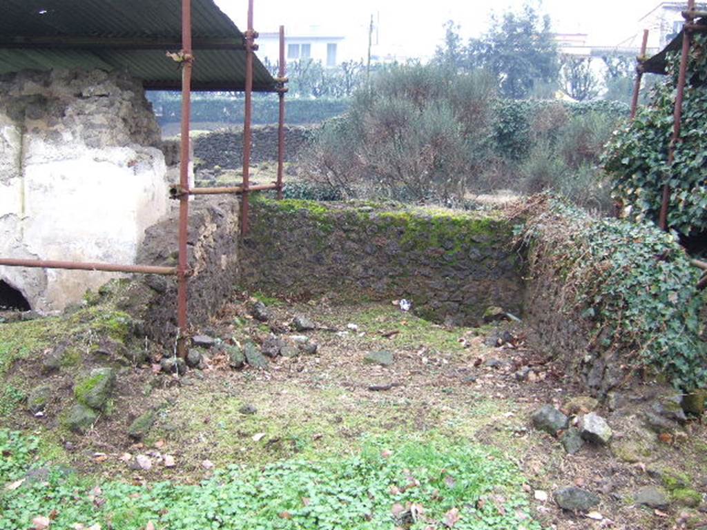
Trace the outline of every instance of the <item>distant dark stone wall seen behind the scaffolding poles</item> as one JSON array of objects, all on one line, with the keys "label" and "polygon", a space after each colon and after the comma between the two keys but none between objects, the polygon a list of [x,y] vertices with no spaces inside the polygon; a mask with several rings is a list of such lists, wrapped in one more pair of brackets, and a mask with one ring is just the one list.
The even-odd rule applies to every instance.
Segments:
[{"label": "distant dark stone wall seen behind the scaffolding poles", "polygon": [[[253,127],[251,162],[260,163],[277,160],[277,126]],[[285,160],[293,162],[307,146],[312,135],[308,127],[287,126],[285,128]],[[194,140],[194,156],[197,171],[218,165],[224,169],[240,169],[243,166],[243,131],[229,129],[197,136]]]}]

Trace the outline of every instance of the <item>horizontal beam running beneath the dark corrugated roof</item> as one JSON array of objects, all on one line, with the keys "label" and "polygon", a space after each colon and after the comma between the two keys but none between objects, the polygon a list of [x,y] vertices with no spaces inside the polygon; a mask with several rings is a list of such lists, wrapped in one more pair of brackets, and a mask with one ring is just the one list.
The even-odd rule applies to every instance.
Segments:
[{"label": "horizontal beam running beneath the dark corrugated roof", "polygon": [[[0,48],[23,49],[182,49],[180,39],[169,37],[0,36]],[[243,39],[194,38],[192,49],[245,49]]]}]

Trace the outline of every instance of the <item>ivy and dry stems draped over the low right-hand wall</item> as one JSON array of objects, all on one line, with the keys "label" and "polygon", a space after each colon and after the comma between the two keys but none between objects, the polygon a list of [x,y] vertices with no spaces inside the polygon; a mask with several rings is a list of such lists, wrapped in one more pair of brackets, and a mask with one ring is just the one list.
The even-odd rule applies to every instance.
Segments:
[{"label": "ivy and dry stems draped over the low right-hand wall", "polygon": [[531,269],[541,263],[552,271],[568,311],[588,319],[601,351],[621,353],[630,367],[653,368],[678,389],[707,384],[700,273],[673,235],[650,223],[595,219],[548,199],[533,208],[525,240]]}]

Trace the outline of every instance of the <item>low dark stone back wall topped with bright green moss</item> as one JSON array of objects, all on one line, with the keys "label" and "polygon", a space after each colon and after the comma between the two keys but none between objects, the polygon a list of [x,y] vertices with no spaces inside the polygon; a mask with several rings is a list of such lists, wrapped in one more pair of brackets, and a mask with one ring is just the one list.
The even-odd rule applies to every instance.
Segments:
[{"label": "low dark stone back wall topped with bright green moss", "polygon": [[252,201],[240,283],[290,298],[413,303],[417,314],[477,324],[486,307],[520,313],[513,225],[499,212],[398,204]]}]

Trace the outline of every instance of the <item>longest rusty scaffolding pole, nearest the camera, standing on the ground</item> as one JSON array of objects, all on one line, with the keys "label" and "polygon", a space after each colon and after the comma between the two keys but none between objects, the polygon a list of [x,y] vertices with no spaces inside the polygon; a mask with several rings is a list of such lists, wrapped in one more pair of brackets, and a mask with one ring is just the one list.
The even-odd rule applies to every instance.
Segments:
[{"label": "longest rusty scaffolding pole, nearest the camera, standing on the ground", "polygon": [[187,356],[187,230],[189,223],[189,119],[192,112],[192,2],[182,0],[182,138],[180,146],[179,264],[177,266],[177,354]]}]

